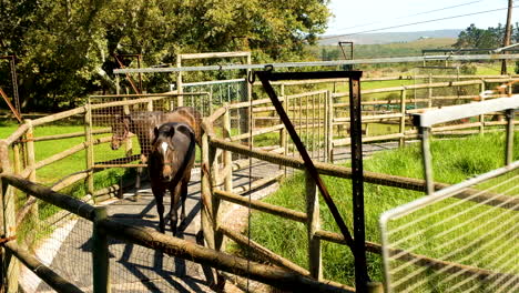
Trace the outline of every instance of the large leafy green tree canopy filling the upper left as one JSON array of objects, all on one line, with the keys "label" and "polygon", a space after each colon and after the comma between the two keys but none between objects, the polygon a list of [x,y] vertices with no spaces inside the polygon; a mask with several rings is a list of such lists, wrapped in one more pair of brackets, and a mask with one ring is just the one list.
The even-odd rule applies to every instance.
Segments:
[{"label": "large leafy green tree canopy filling the upper left", "polygon": [[[0,1],[0,50],[18,58],[26,110],[52,110],[113,89],[113,54],[142,54],[145,67],[210,51],[252,51],[258,62],[304,60],[305,46],[326,29],[328,1]],[[9,88],[3,63],[0,78]],[[166,78],[150,77],[146,87],[164,87]]]}]

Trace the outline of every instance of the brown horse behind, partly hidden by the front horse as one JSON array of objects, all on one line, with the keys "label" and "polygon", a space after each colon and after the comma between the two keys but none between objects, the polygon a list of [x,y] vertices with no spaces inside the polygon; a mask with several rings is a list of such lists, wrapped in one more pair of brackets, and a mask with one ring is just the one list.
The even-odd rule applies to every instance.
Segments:
[{"label": "brown horse behind, partly hidden by the front horse", "polygon": [[166,122],[186,121],[194,130],[196,142],[201,139],[201,114],[191,107],[179,107],[172,112],[134,112],[118,114],[112,123],[112,150],[121,148],[130,132],[138,135],[141,145],[141,161],[145,163],[151,152],[153,129]]}]

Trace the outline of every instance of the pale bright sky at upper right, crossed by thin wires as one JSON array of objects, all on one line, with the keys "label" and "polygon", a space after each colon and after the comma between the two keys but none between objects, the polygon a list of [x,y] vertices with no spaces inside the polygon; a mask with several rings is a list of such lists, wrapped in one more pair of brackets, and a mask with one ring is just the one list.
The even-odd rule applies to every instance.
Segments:
[{"label": "pale bright sky at upper right, crossed by thin wires", "polygon": [[[515,6],[512,23],[519,22],[519,0]],[[507,7],[508,0],[332,0],[328,8],[335,17],[325,34],[465,30],[470,23],[487,29],[506,23]],[[497,11],[479,13],[489,10]],[[462,14],[471,16],[455,18]]]}]

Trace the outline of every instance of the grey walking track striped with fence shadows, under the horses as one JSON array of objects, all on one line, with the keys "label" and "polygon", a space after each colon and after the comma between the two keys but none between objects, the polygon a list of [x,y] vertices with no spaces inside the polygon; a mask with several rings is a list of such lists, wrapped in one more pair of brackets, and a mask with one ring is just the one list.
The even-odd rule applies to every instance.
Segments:
[{"label": "grey walking track striped with fence shadows, under the horses", "polygon": [[[363,146],[365,156],[376,151],[397,148],[396,142],[365,144]],[[337,161],[349,158],[349,149],[340,149],[335,156]],[[268,176],[279,171],[279,165],[255,161],[251,170],[254,180]],[[233,172],[233,186],[248,185],[250,171],[245,168],[242,171]],[[255,199],[263,198],[273,192],[277,183],[268,188],[253,191],[251,194]],[[114,199],[104,202],[108,206],[109,216],[115,221],[131,225],[157,229],[159,216],[155,201],[149,185],[139,190],[139,196],[134,195],[134,190],[125,193],[123,199]],[[193,170],[186,200],[186,219],[181,223],[181,239],[196,243],[196,235],[200,231],[200,170]],[[170,196],[164,198],[164,206],[169,212]],[[246,226],[246,214],[237,212],[236,216],[226,216],[236,228]],[[241,214],[242,216],[237,216]],[[245,216],[243,216],[245,215]],[[77,219],[54,231],[59,234],[61,242],[54,241],[51,244],[43,244],[45,247],[41,253],[35,251],[40,259],[48,259],[45,264],[55,269],[59,274],[79,286],[85,292],[92,292],[92,261],[91,261],[91,231],[92,223]],[[166,233],[171,233],[169,223]],[[212,292],[210,284],[214,282],[210,267],[204,267],[197,263],[175,259],[153,250],[139,245],[128,244],[114,239],[110,239],[110,282],[112,292]],[[22,270],[21,285],[24,292],[53,292],[45,283],[41,282],[27,269]],[[230,283],[230,282],[227,282]],[[230,291],[233,289],[228,285]],[[226,287],[227,289],[227,287]],[[234,291],[236,292],[236,291]]]}]

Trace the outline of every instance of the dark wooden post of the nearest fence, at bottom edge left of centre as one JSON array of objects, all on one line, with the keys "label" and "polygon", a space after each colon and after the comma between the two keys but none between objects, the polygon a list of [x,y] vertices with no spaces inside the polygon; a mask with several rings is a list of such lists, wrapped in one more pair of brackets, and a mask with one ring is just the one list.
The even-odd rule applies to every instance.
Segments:
[{"label": "dark wooden post of the nearest fence, at bottom edge left of centre", "polygon": [[99,229],[99,223],[108,219],[106,206],[95,208],[92,232],[93,292],[110,293],[110,259],[108,238]]}]

